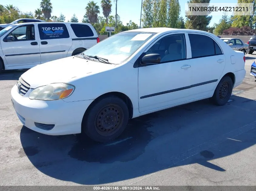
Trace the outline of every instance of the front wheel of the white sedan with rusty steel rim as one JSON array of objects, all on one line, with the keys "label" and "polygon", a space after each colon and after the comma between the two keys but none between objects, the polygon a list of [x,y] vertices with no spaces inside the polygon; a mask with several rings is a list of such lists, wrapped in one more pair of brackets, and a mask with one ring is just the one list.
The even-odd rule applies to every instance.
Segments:
[{"label": "front wheel of the white sedan with rusty steel rim", "polygon": [[128,119],[128,107],[122,99],[116,96],[105,97],[85,114],[82,131],[96,142],[109,142],[121,135]]}]

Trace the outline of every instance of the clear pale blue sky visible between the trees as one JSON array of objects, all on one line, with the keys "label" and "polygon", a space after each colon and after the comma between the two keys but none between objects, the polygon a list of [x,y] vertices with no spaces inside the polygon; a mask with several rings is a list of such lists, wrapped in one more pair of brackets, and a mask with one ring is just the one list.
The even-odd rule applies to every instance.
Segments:
[{"label": "clear pale blue sky visible between the trees", "polygon": [[[100,6],[100,0],[94,1],[97,2],[97,4]],[[34,12],[36,8],[39,8],[40,2],[41,0],[1,0],[1,4],[13,4],[24,12]],[[51,2],[53,7],[52,15],[59,16],[60,13],[62,13],[65,15],[67,21],[70,20],[73,14],[76,14],[80,22],[85,14],[85,7],[89,0],[51,0]],[[187,3],[187,0],[179,0],[179,2],[181,5],[181,16],[185,18],[185,3]],[[211,0],[211,3],[223,3],[223,0]],[[237,0],[225,0],[225,3],[237,3]],[[115,15],[114,0],[112,0],[112,4],[113,5],[111,15]],[[100,11],[100,15],[103,16],[102,9]],[[121,21],[124,25],[132,20],[139,26],[141,14],[141,0],[118,0],[117,14],[120,15]],[[213,16],[210,26],[212,26],[215,22],[218,23],[220,18],[221,16]]]}]

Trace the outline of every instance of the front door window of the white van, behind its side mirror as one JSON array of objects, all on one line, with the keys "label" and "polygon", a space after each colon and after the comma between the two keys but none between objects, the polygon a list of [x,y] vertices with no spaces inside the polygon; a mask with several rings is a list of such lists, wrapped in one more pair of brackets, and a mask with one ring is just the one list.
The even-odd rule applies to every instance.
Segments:
[{"label": "front door window of the white van, behind its side mirror", "polygon": [[7,37],[13,36],[16,41],[35,40],[34,30],[35,30],[34,25],[25,25],[25,26],[23,25],[13,30],[11,33],[7,35]]}]

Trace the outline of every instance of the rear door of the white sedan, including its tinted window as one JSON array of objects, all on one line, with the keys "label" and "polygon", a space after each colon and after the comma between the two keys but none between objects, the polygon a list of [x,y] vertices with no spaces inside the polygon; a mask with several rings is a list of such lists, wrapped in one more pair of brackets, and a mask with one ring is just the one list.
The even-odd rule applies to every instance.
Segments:
[{"label": "rear door of the white sedan, including its tinted window", "polygon": [[191,98],[197,99],[214,92],[225,68],[226,58],[210,36],[188,33],[188,37],[191,46]]}]

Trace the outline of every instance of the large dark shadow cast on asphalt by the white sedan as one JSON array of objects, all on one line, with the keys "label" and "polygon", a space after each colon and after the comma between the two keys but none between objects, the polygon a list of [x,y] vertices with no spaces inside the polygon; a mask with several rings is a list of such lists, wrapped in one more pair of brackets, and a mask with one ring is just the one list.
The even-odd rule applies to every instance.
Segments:
[{"label": "large dark shadow cast on asphalt by the white sedan", "polygon": [[78,135],[49,136],[25,126],[20,157],[42,173],[79,184],[113,183],[188,164],[225,172],[211,160],[256,143],[256,101],[231,96],[222,107],[208,100],[131,119],[110,143]]}]

